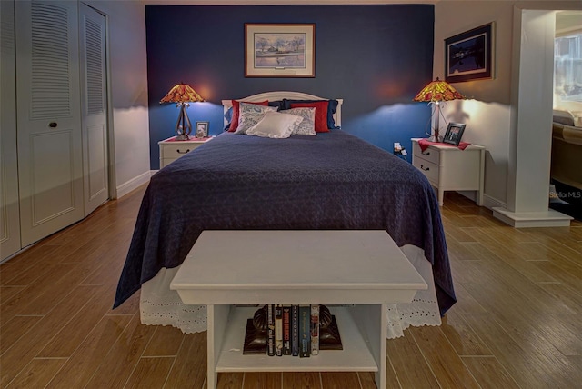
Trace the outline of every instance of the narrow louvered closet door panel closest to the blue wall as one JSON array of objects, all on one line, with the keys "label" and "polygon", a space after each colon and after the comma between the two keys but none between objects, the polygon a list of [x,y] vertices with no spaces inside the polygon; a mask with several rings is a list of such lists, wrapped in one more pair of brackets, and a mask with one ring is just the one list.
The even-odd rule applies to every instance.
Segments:
[{"label": "narrow louvered closet door panel closest to the blue wall", "polygon": [[81,43],[81,123],[85,216],[109,198],[107,175],[107,111],[105,16],[79,5]]}]

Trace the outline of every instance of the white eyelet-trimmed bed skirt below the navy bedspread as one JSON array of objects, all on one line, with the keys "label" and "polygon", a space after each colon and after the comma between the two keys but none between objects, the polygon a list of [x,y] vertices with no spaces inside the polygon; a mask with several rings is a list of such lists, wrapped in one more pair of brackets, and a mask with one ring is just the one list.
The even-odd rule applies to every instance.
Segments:
[{"label": "white eyelet-trimmed bed skirt below the navy bedspread", "polygon": [[[416,292],[411,304],[388,305],[388,339],[403,336],[403,331],[409,326],[441,324],[432,266],[426,260],[424,251],[414,245],[405,245],[400,249],[425,279],[428,289]],[[206,305],[186,305],[175,290],[170,290],[178,268],[163,268],[153,279],[142,284],[139,302],[141,322],[146,325],[172,325],[185,334],[206,331]]]}]

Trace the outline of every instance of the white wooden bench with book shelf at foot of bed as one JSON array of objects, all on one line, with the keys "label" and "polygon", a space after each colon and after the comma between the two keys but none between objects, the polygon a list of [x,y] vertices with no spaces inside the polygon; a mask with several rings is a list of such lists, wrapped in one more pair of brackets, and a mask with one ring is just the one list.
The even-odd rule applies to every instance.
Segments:
[{"label": "white wooden bench with book shelf at foot of bed", "polygon": [[[170,285],[206,304],[208,388],[222,372],[376,372],[386,387],[386,304],[410,303],[423,278],[386,231],[205,231]],[[243,355],[246,319],[233,304],[332,307],[344,349],[311,358]]]}]

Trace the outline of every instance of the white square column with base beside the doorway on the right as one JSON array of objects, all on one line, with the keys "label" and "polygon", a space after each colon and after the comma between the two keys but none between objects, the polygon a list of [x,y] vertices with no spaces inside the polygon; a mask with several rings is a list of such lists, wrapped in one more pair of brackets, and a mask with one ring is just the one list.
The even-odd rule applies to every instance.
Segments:
[{"label": "white square column with base beside the doorway on the right", "polygon": [[555,31],[554,11],[515,8],[507,209],[493,210],[516,227],[571,220],[548,208]]}]

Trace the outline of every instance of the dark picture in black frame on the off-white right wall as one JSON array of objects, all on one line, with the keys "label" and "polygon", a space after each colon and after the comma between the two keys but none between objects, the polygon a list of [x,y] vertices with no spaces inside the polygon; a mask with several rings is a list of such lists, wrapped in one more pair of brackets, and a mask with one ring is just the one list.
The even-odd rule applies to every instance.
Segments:
[{"label": "dark picture in black frame on the off-white right wall", "polygon": [[459,83],[494,77],[495,24],[480,25],[445,39],[445,80]]}]

